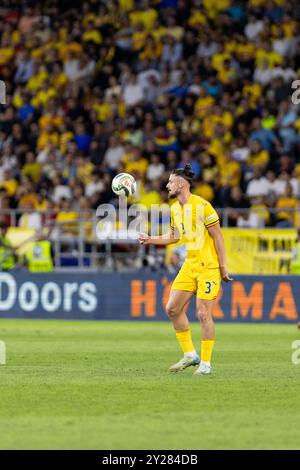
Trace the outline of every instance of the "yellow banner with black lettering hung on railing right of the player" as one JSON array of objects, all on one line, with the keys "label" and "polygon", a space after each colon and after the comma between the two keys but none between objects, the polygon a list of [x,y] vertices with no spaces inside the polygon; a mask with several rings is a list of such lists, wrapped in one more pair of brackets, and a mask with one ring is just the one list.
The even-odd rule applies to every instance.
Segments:
[{"label": "yellow banner with black lettering hung on railing right of the player", "polygon": [[295,229],[223,228],[231,274],[288,274]]}]

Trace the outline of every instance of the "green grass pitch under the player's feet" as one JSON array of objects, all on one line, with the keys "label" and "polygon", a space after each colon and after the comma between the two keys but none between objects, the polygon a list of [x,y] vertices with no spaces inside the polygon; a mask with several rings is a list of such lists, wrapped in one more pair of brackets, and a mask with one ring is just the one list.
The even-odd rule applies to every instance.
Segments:
[{"label": "green grass pitch under the player's feet", "polygon": [[[199,349],[199,326],[192,324]],[[1,449],[299,449],[294,325],[217,324],[211,377],[170,324],[0,320]]]}]

